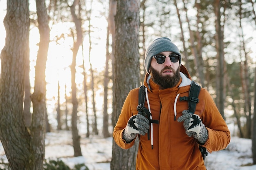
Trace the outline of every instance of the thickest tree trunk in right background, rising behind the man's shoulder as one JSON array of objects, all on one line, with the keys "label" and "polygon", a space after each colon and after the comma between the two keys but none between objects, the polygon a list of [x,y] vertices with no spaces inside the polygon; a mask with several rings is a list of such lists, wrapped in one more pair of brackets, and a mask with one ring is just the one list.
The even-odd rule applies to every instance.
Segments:
[{"label": "thickest tree trunk in right background, rising behind the man's shoulder", "polygon": [[[221,23],[220,18],[222,17],[220,9],[222,8],[221,2],[222,0],[216,0],[213,4],[214,6],[214,13],[216,16],[215,20],[215,29],[216,29],[216,35],[215,35],[215,40],[216,40],[216,50],[217,50],[217,68],[216,68],[216,95],[217,95],[217,101],[216,105],[220,111],[220,114],[222,117],[225,119],[224,115],[224,24]],[[225,10],[224,10],[225,11]],[[223,12],[224,15],[224,12]]]}]

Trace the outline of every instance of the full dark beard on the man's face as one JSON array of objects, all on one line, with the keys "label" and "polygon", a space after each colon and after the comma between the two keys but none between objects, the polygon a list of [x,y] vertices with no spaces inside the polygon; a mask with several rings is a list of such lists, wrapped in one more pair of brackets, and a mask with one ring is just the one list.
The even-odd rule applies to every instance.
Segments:
[{"label": "full dark beard on the man's face", "polygon": [[179,71],[180,68],[174,71],[173,68],[166,66],[163,70],[166,70],[166,69],[170,69],[173,71],[174,73],[173,77],[171,77],[170,75],[162,76],[157,70],[150,67],[151,78],[153,82],[155,82],[155,84],[158,84],[160,86],[161,89],[175,87],[177,83],[180,81],[180,71]]}]

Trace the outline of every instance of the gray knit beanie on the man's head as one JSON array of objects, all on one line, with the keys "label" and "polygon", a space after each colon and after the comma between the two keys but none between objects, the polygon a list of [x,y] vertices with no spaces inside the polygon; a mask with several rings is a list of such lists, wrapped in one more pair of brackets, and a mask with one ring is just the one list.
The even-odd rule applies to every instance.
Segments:
[{"label": "gray knit beanie on the man's head", "polygon": [[[165,51],[171,51],[173,53],[180,54],[178,47],[173,44],[169,38],[166,37],[157,38],[149,44],[148,48],[146,49],[144,60],[144,66],[148,73],[152,57]],[[181,57],[179,62],[181,63]]]}]

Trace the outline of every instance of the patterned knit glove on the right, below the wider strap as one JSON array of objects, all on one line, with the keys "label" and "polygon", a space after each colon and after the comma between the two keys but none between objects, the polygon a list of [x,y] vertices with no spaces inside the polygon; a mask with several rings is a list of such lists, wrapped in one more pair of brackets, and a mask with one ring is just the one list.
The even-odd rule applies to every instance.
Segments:
[{"label": "patterned knit glove on the right, below the wider strap", "polygon": [[204,144],[208,138],[208,131],[202,123],[200,117],[195,114],[188,113],[188,110],[182,111],[182,116],[178,118],[178,122],[183,122],[186,134],[197,139],[200,144]]}]

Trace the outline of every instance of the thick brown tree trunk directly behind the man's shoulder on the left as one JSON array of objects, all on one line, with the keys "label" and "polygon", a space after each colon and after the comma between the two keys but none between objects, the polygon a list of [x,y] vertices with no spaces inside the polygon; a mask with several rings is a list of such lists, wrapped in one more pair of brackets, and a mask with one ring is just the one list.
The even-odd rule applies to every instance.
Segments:
[{"label": "thick brown tree trunk directly behind the man's shoulder on the left", "polygon": [[[115,18],[115,72],[112,124],[115,126],[121,108],[132,88],[139,87],[139,7],[140,0],[117,1]],[[135,170],[138,143],[123,150],[113,140],[111,170]]]}]

